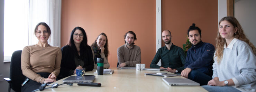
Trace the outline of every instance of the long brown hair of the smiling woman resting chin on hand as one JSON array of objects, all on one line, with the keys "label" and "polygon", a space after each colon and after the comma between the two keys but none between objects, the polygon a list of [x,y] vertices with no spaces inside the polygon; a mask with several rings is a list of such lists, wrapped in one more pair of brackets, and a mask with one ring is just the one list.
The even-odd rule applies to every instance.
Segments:
[{"label": "long brown hair of the smiling woman resting chin on hand", "polygon": [[[108,50],[108,37],[107,37],[107,35],[106,35],[105,33],[100,33],[100,35],[103,35],[103,36],[106,37],[106,44],[105,44],[105,46],[104,46],[104,48],[105,48],[105,49],[104,49],[104,55],[105,55],[105,57],[107,58],[108,55],[109,55],[109,50]],[[99,35],[99,36],[100,36],[100,35]],[[98,40],[99,36],[96,38],[96,40]],[[96,40],[92,43],[91,47],[98,45],[97,42],[96,42]]]}]

